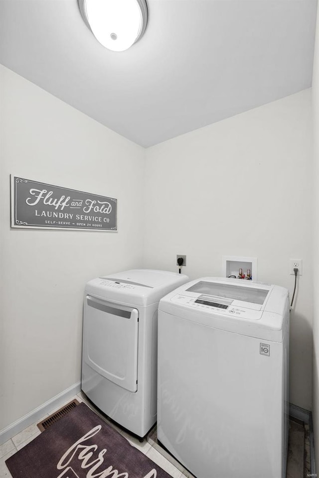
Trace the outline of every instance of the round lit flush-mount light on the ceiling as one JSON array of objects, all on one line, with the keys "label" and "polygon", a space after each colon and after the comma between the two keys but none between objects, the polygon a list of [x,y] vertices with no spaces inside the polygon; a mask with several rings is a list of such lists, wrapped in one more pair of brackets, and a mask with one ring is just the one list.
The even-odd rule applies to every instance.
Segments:
[{"label": "round lit flush-mount light on the ceiling", "polygon": [[127,50],[145,31],[146,0],[78,0],[78,4],[93,35],[109,50]]}]

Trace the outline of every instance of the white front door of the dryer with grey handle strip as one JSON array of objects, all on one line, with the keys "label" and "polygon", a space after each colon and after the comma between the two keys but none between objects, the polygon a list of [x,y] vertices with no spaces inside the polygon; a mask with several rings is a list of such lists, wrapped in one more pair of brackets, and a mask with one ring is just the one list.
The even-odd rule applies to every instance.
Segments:
[{"label": "white front door of the dryer with grey handle strip", "polygon": [[83,357],[103,377],[137,391],[139,311],[89,295],[84,304]]}]

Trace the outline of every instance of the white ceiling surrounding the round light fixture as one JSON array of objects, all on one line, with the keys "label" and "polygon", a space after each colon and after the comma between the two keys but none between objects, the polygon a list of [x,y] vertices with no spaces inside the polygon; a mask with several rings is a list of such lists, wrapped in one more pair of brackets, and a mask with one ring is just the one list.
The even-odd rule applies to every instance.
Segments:
[{"label": "white ceiling surrounding the round light fixture", "polygon": [[317,0],[147,0],[112,52],[77,0],[0,0],[0,62],[142,146],[311,86]]}]

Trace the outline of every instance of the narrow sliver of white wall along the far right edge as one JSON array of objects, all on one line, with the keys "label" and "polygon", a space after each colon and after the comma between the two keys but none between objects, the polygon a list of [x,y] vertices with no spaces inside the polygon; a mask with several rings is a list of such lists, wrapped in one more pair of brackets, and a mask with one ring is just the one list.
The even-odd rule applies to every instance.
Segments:
[{"label": "narrow sliver of white wall along the far right edge", "polygon": [[313,422],[317,473],[319,471],[319,8],[313,75],[314,119],[314,331],[313,331]]}]

